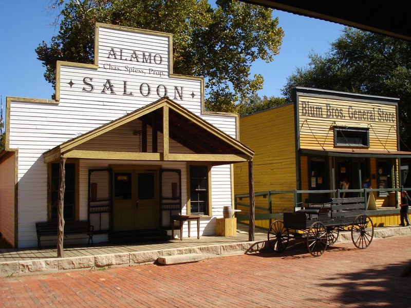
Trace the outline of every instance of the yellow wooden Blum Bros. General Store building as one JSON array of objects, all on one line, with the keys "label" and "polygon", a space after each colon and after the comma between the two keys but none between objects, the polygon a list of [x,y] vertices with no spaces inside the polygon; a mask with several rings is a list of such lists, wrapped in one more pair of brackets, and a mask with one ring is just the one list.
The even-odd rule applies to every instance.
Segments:
[{"label": "yellow wooden Blum Bros. General Store building", "polygon": [[[401,158],[411,157],[399,150],[398,102],[297,87],[293,103],[240,118],[240,141],[255,151],[256,225],[308,198],[358,196],[375,225],[398,224]],[[234,183],[247,213],[246,164],[234,165]]]}]

